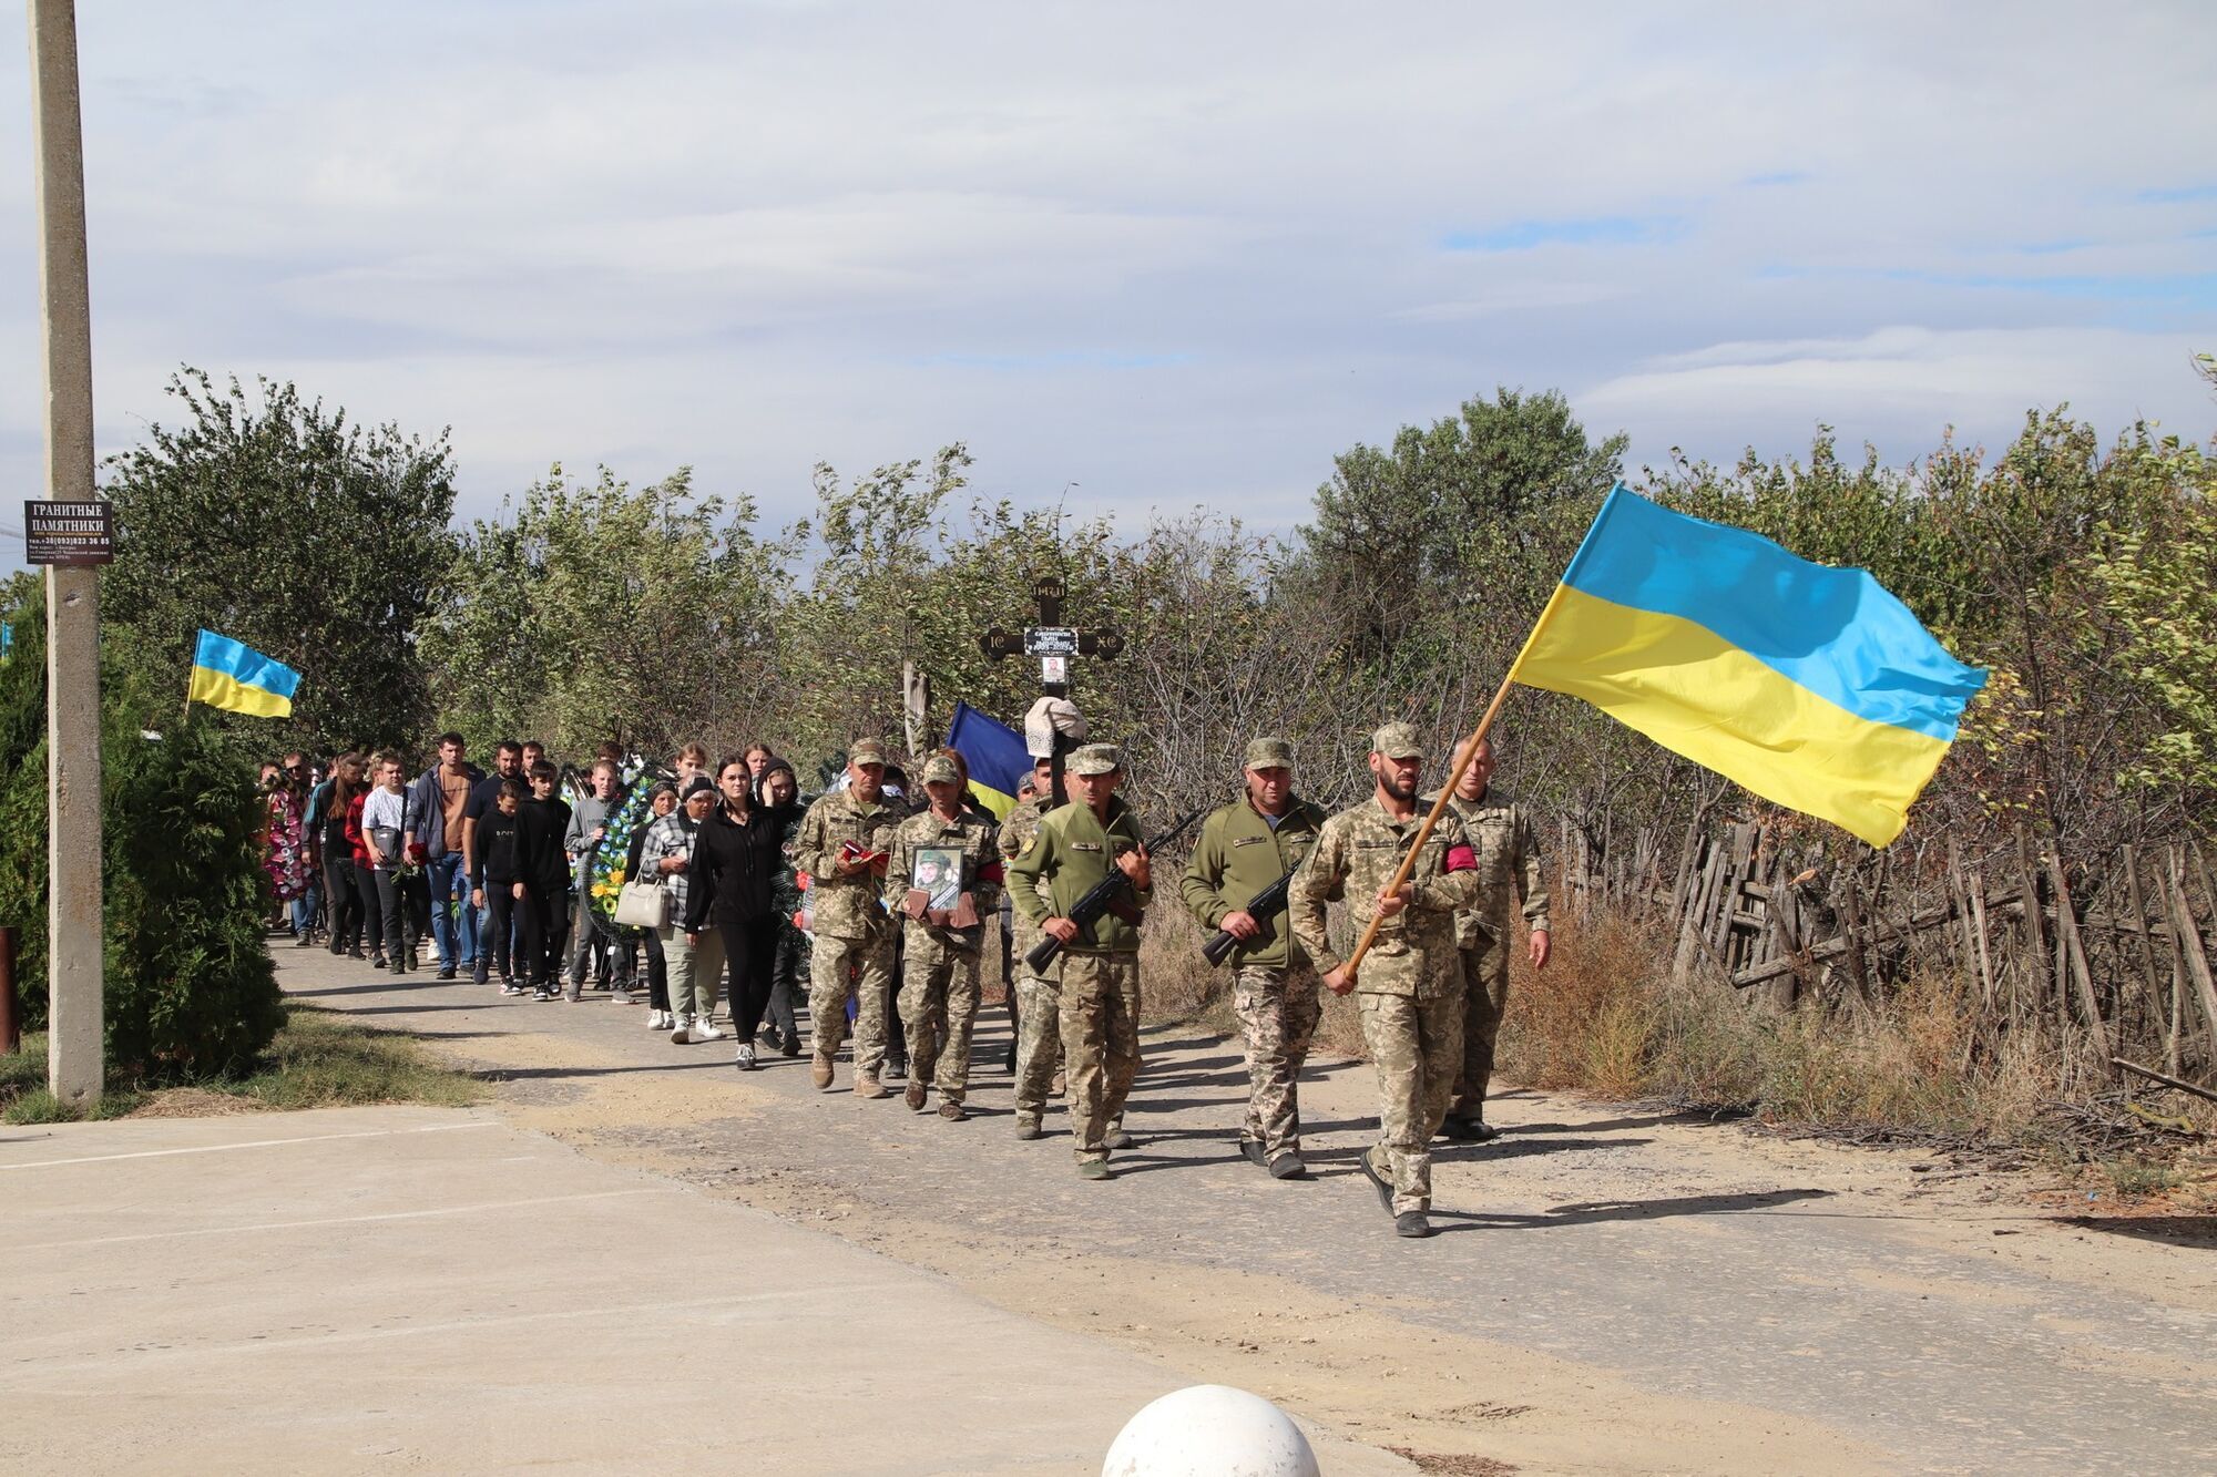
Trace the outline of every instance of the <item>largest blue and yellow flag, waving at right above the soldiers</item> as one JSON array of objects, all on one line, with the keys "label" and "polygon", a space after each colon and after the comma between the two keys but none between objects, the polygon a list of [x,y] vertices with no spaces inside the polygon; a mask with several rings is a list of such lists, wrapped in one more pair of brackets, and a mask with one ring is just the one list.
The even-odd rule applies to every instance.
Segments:
[{"label": "largest blue and yellow flag, waving at right above the soldiers", "polygon": [[1864,570],[1618,486],[1510,670],[1882,847],[1986,674]]}]

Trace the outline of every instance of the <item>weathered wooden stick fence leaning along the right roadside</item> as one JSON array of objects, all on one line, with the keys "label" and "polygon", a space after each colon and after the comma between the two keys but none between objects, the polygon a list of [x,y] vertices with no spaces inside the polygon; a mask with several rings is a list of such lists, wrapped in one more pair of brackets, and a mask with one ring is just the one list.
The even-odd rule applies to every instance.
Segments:
[{"label": "weathered wooden stick fence leaning along the right roadside", "polygon": [[1561,825],[1563,907],[1621,911],[1672,938],[1678,978],[1767,987],[1780,1009],[1878,1007],[1920,971],[1975,991],[1989,1033],[2040,1031],[2102,1076],[2113,1058],[2217,1076],[2217,892],[2193,843],[2066,867],[2020,829],[1984,856],[1794,856],[1756,823],[1643,829],[1594,845]]}]

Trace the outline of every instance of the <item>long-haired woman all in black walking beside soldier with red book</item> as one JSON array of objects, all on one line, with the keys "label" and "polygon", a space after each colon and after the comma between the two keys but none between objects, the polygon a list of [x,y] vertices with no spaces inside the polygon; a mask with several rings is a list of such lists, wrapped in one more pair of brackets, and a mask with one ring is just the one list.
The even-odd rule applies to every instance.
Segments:
[{"label": "long-haired woman all in black walking beside soldier with red book", "polygon": [[692,883],[685,889],[685,934],[692,943],[714,927],[729,960],[732,1031],[738,1036],[738,1069],[756,1071],[754,1031],[769,1002],[769,974],[778,951],[778,914],[772,885],[785,865],[785,836],[776,816],[754,803],[745,758],[716,767],[723,803],[701,823],[694,843]]}]

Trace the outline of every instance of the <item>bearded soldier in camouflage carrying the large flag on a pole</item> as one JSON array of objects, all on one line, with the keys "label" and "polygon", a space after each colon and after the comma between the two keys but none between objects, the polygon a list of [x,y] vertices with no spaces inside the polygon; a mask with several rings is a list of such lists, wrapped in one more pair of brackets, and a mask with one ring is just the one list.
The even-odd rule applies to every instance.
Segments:
[{"label": "bearded soldier in camouflage carrying the large flag on a pole", "polygon": [[[1293,936],[1335,994],[1355,991],[1363,1047],[1379,1078],[1379,1142],[1361,1169],[1394,1218],[1399,1235],[1430,1235],[1432,1135],[1448,1113],[1463,1062],[1463,974],[1454,914],[1477,900],[1479,860],[1454,814],[1423,843],[1408,883],[1386,892],[1423,814],[1417,774],[1423,745],[1408,723],[1388,723],[1370,741],[1377,792],[1324,823],[1308,865],[1293,878]],[[1359,931],[1381,918],[1379,936],[1350,980],[1324,931],[1324,903],[1344,889]]]}]

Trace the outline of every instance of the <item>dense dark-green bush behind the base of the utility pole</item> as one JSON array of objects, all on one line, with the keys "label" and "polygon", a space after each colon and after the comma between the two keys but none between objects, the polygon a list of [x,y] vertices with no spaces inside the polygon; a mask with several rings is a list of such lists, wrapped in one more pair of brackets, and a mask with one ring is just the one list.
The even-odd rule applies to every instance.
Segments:
[{"label": "dense dark-green bush behind the base of the utility pole", "polygon": [[[47,683],[44,603],[7,614],[16,654],[0,665],[0,923],[18,929],[24,1022],[47,1022]],[[113,641],[102,650],[102,860],[106,1051],[111,1076],[149,1080],[231,1071],[284,1018],[262,943],[262,801],[251,761],[215,725],[160,738],[151,696],[133,690]],[[180,690],[184,674],[177,674]]]}]

